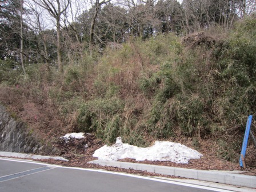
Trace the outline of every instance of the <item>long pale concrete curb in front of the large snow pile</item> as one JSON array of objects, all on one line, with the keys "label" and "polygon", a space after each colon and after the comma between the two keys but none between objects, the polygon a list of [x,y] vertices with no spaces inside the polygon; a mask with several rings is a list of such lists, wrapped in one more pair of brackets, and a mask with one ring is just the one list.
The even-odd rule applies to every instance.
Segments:
[{"label": "long pale concrete curb in front of the large snow pile", "polygon": [[242,186],[242,187],[256,187],[256,177],[249,175],[240,175],[234,173],[227,173],[226,171],[205,171],[195,169],[184,169],[179,167],[167,167],[157,165],[146,165],[141,163],[127,163],[119,161],[103,161],[94,160],[89,163],[98,164],[101,166],[113,166],[123,169],[142,170],[150,173],[158,173],[164,175],[172,175],[175,177],[185,177],[189,179],[197,179],[200,181],[209,181],[215,183],[223,183],[227,185]]}]

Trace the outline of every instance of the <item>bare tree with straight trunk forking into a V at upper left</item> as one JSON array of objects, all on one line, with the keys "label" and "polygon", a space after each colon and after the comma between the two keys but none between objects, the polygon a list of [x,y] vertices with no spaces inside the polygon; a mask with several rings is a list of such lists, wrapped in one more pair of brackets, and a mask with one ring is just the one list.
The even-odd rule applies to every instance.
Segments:
[{"label": "bare tree with straight trunk forking into a V at upper left", "polygon": [[57,28],[57,54],[59,71],[63,73],[63,64],[61,57],[61,16],[69,7],[71,0],[32,0],[37,5],[46,9],[48,13],[55,19]]}]

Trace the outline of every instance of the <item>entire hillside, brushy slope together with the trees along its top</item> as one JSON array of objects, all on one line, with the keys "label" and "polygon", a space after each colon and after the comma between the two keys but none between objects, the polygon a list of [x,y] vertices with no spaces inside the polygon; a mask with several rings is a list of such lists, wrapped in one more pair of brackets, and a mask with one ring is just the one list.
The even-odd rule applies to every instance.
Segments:
[{"label": "entire hillside, brushy slope together with the trees along its top", "polygon": [[211,141],[237,161],[256,111],[255,5],[1,1],[0,101],[52,141],[71,131],[138,146]]}]

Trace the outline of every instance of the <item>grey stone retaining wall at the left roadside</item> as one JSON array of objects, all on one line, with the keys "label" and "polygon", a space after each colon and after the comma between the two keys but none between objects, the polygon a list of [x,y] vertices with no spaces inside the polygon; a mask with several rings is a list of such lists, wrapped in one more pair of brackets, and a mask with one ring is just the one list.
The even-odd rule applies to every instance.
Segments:
[{"label": "grey stone retaining wall at the left roadside", "polygon": [[27,133],[25,123],[12,118],[0,103],[0,151],[38,153],[42,148],[43,146]]}]

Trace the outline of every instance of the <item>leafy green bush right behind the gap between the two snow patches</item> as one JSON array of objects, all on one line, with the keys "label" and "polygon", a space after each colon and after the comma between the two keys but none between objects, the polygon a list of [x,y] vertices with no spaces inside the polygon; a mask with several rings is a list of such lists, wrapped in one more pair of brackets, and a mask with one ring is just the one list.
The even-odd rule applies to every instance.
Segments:
[{"label": "leafy green bush right behind the gap between the two snow patches", "polygon": [[118,137],[121,125],[123,103],[118,98],[96,98],[86,102],[80,109],[77,119],[78,129],[94,132],[105,141],[113,142]]}]

